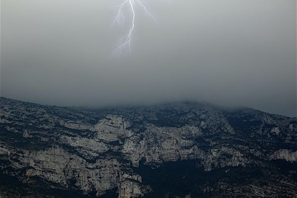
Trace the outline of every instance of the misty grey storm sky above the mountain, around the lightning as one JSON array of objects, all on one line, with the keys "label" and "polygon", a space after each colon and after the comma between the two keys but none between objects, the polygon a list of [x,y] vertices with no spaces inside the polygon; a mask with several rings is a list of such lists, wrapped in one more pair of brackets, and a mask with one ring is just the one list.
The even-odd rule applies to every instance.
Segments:
[{"label": "misty grey storm sky above the mountain, around the lightning", "polygon": [[55,105],[180,100],[296,116],[296,0],[1,0],[1,96]]}]

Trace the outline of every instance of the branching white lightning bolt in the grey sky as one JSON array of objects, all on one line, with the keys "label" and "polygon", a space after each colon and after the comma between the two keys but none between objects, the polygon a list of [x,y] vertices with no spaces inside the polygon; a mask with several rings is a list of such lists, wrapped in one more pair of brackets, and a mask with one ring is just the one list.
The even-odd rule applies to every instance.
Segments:
[{"label": "branching white lightning bolt in the grey sky", "polygon": [[148,12],[147,7],[141,2],[141,0],[124,0],[124,2],[122,4],[120,4],[120,6],[119,6],[118,13],[111,24],[111,28],[113,28],[116,23],[119,25],[120,23],[125,22],[124,11],[123,11],[125,6],[127,6],[132,12],[132,19],[130,21],[131,25],[130,25],[128,34],[126,36],[122,37],[124,42],[122,44],[120,44],[112,52],[110,58],[112,58],[116,55],[120,55],[123,50],[128,50],[128,52],[131,53],[131,40],[132,40],[133,31],[135,28],[135,16],[136,16],[135,15],[135,5],[136,4],[138,4],[140,7],[142,7],[142,9],[148,14],[148,16],[151,17],[156,22],[156,19]]}]

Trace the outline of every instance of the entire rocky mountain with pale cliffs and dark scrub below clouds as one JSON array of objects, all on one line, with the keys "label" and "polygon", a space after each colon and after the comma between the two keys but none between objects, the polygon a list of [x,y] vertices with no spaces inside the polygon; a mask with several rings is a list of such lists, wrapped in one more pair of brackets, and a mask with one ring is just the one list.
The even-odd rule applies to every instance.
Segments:
[{"label": "entire rocky mountain with pale cliffs and dark scrub below clouds", "polygon": [[297,198],[297,119],[0,98],[0,198]]}]

